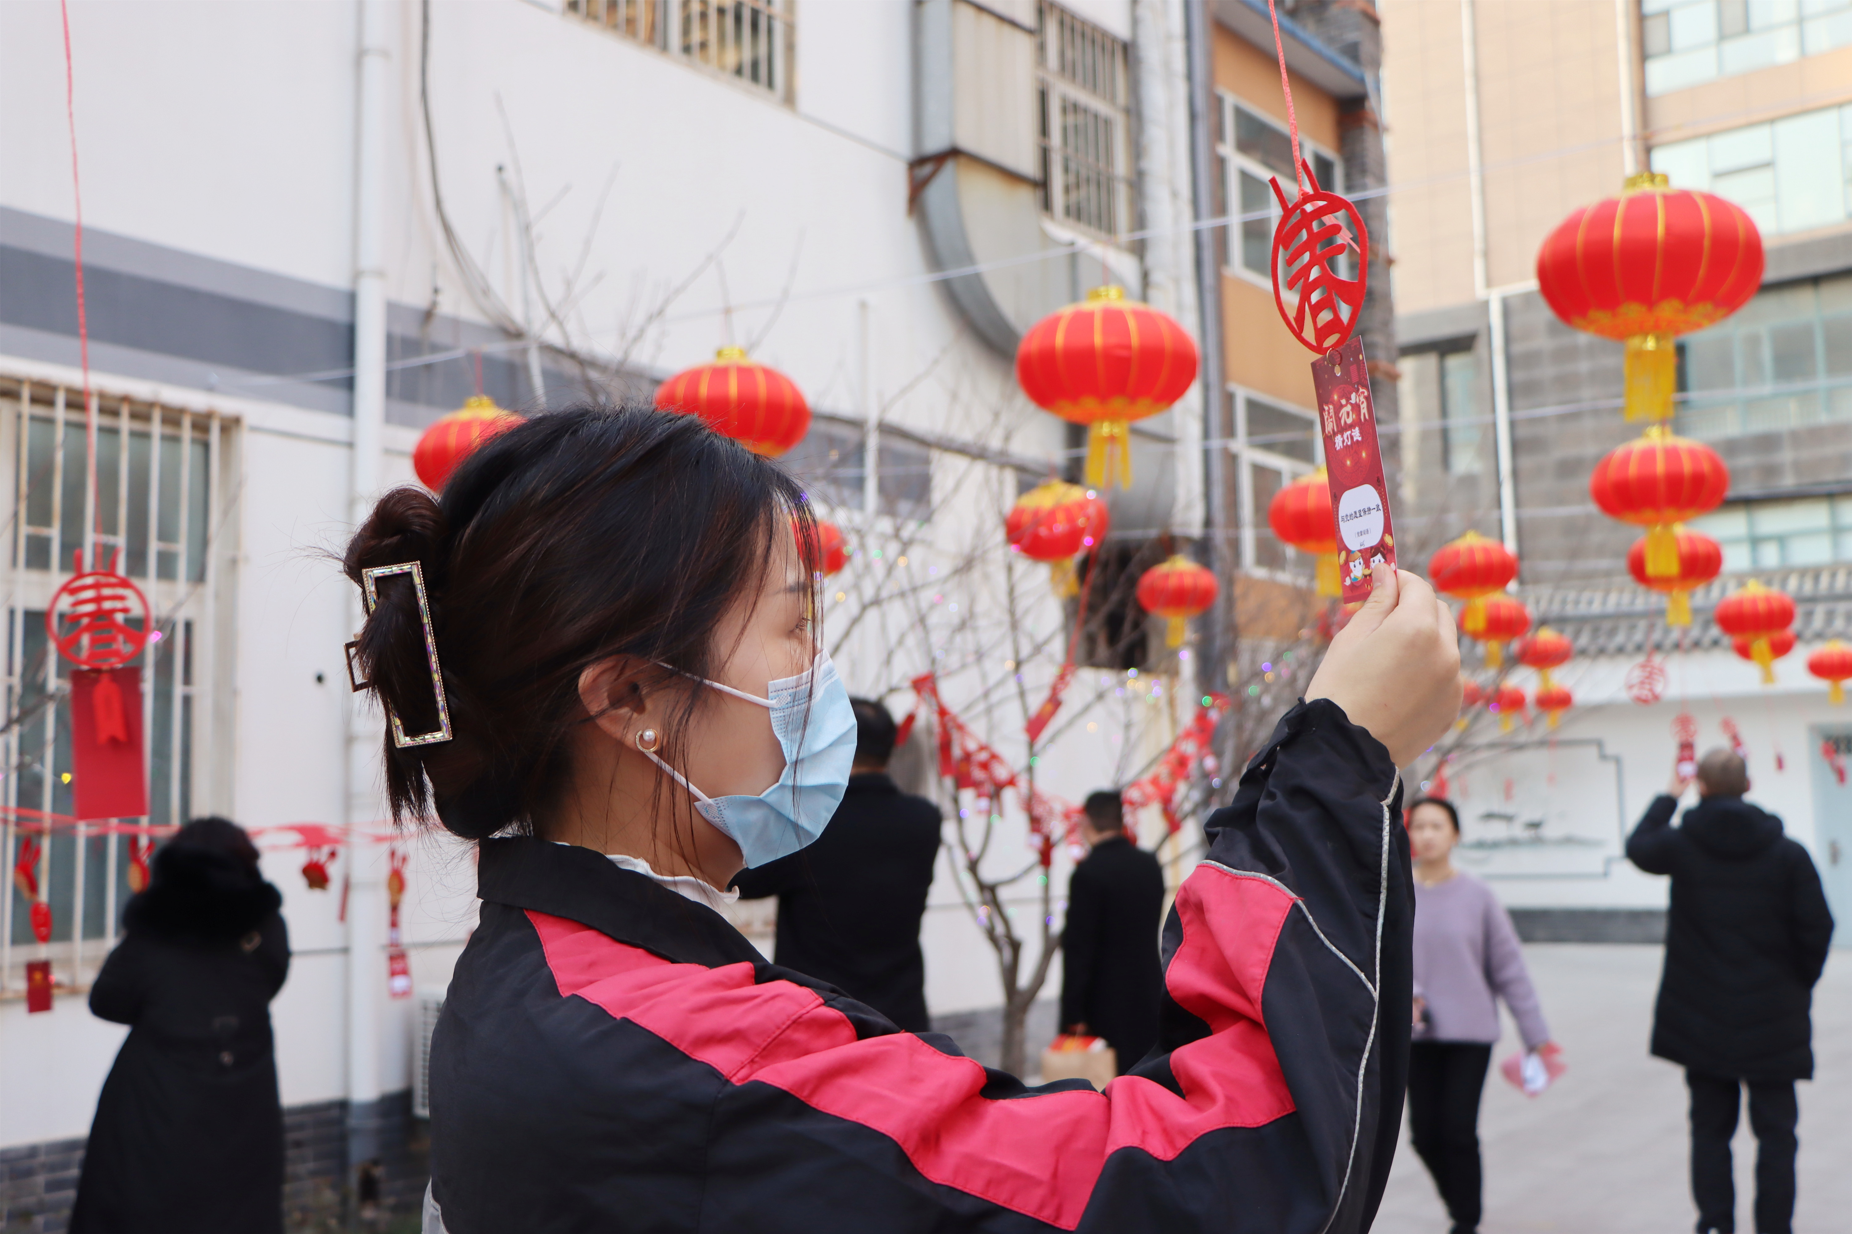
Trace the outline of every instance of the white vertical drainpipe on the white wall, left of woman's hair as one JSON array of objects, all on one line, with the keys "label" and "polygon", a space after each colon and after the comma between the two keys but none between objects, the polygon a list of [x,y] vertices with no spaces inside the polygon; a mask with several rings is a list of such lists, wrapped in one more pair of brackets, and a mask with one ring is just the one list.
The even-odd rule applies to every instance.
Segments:
[{"label": "white vertical drainpipe on the white wall, left of woman's hair", "polygon": [[[359,0],[354,167],[354,455],[350,518],[367,520],[380,492],[380,455],[385,437],[385,105],[387,105],[387,2]],[[363,623],[359,588],[348,599],[352,629]],[[348,709],[346,823],[359,827],[378,818],[380,716]],[[348,844],[346,862],[346,1095],[348,1182],[363,1162],[380,1154],[376,1104],[380,1099],[380,988],[385,968],[382,875],[374,870],[378,845]]]}]

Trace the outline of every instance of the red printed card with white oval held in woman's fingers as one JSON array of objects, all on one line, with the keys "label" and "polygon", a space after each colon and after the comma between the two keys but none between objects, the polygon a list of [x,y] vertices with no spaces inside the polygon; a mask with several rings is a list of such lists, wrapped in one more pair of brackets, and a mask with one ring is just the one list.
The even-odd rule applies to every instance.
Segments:
[{"label": "red printed card with white oval held in woman's fingers", "polygon": [[1376,407],[1363,340],[1352,339],[1311,363],[1319,392],[1319,427],[1324,433],[1324,470],[1332,485],[1332,520],[1337,525],[1337,575],[1345,603],[1370,594],[1370,570],[1395,568],[1395,529],[1389,524],[1389,488],[1383,455],[1376,446]]}]

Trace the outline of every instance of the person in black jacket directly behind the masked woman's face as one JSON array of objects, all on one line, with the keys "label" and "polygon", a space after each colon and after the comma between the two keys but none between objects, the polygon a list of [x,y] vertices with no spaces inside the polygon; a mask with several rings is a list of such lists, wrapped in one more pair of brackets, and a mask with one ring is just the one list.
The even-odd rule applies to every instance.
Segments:
[{"label": "person in black jacket directly behind the masked woman's face", "polygon": [[791,968],[924,1032],[920,918],[939,858],[939,807],[887,775],[898,729],[872,699],[856,709],[856,762],[843,805],[807,849],[745,870],[746,899],[778,897],[778,955]]}]

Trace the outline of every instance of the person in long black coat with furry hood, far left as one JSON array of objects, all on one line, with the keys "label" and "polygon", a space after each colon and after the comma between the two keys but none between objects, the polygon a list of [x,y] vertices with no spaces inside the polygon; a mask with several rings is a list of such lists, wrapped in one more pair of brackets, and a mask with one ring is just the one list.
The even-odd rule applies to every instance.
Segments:
[{"label": "person in long black coat with furry hood, far left", "polygon": [[282,1234],[282,903],[250,836],[222,818],[154,855],[91,986],[91,1012],[130,1034],[96,1103],[72,1234]]}]

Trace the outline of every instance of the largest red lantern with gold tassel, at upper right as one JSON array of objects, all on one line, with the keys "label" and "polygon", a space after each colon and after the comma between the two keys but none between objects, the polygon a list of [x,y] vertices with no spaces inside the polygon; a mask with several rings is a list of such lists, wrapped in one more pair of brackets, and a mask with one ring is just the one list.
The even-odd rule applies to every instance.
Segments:
[{"label": "largest red lantern with gold tassel, at upper right", "polygon": [[1626,342],[1626,418],[1669,420],[1672,337],[1715,326],[1761,287],[1761,233],[1709,192],[1630,176],[1619,198],[1565,218],[1537,250],[1537,285],[1576,329]]}]

